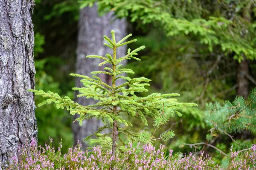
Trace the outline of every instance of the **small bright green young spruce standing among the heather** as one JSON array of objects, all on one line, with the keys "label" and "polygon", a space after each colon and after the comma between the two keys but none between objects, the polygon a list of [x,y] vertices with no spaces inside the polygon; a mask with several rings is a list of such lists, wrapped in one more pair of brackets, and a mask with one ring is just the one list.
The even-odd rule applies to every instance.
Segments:
[{"label": "small bright green young spruce standing among the heather", "polygon": [[[112,68],[105,67],[105,71],[93,71],[91,72],[92,77],[87,77],[79,74],[70,74],[74,77],[81,77],[81,82],[84,87],[73,88],[75,91],[79,91],[77,97],[86,97],[87,99],[93,98],[98,102],[95,105],[79,105],[78,103],[71,100],[69,97],[62,98],[57,93],[48,91],[47,93],[42,90],[29,90],[34,92],[35,95],[43,96],[46,99],[44,102],[39,104],[42,106],[44,104],[54,103],[56,108],[67,109],[70,114],[79,114],[79,124],[82,125],[82,121],[85,119],[91,119],[96,117],[101,119],[104,123],[103,127],[100,127],[95,133],[88,136],[85,140],[90,139],[93,135],[99,138],[107,137],[112,135],[112,154],[115,154],[116,148],[119,148],[125,144],[122,139],[120,139],[119,134],[123,133],[129,141],[139,141],[143,143],[154,142],[157,139],[162,139],[163,141],[168,141],[174,137],[174,132],[168,130],[163,132],[159,138],[155,138],[154,134],[157,129],[161,126],[166,125],[169,118],[175,116],[182,116],[178,112],[181,106],[196,106],[193,103],[179,103],[176,99],[170,98],[179,96],[179,94],[159,94],[154,93],[146,97],[139,97],[136,94],[140,92],[148,91],[145,86],[148,86],[150,79],[145,77],[130,78],[122,76],[122,74],[134,74],[131,69],[122,68],[122,62],[125,59],[136,59],[140,61],[139,58],[135,57],[137,52],[144,49],[145,46],[141,46],[133,51],[128,49],[127,55],[124,57],[116,57],[116,49],[122,45],[127,45],[131,42],[137,41],[130,40],[125,42],[126,39],[131,37],[132,34],[124,37],[119,42],[116,42],[115,32],[111,31],[112,40],[107,36],[103,36],[107,43],[104,45],[108,46],[113,50],[113,55],[106,54],[105,57],[98,55],[89,55],[87,58],[98,58],[103,60],[99,63],[99,66],[110,63]],[[112,84],[108,85],[105,82],[95,76],[97,74],[107,74],[112,78]],[[119,79],[124,79],[125,82],[122,85],[116,85]],[[153,119],[153,126],[155,128],[154,132],[142,131],[140,133],[134,133],[125,126],[132,126],[131,122],[128,122],[123,118],[122,115],[128,115],[136,119],[140,119],[145,125],[147,123],[147,117]],[[111,133],[101,134],[103,130],[111,129]],[[117,144],[118,138],[118,144]]]}]

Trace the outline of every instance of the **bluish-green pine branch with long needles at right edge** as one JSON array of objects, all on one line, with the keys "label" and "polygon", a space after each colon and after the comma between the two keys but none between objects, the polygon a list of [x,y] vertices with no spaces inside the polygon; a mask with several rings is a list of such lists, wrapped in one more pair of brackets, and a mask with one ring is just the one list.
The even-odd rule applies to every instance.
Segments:
[{"label": "bluish-green pine branch with long needles at right edge", "polygon": [[256,89],[251,91],[248,99],[237,96],[233,102],[226,101],[224,105],[216,102],[207,104],[206,122],[220,133],[241,133],[248,130],[256,133]]}]

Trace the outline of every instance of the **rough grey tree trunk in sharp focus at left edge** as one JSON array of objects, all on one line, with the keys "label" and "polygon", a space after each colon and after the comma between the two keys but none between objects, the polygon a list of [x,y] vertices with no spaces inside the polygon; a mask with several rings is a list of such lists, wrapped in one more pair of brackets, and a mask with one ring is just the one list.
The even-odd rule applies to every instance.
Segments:
[{"label": "rough grey tree trunk in sharp focus at left edge", "polygon": [[[33,60],[34,0],[0,0],[0,167],[37,138]],[[1,168],[0,168],[1,169]]]}]

